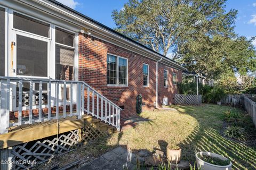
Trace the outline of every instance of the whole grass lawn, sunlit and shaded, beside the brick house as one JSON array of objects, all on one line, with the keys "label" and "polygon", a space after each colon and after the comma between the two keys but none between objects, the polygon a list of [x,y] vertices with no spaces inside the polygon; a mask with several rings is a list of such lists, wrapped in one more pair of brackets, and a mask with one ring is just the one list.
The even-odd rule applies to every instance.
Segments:
[{"label": "whole grass lawn, sunlit and shaded, beside the brick house", "polygon": [[191,163],[195,161],[196,152],[210,151],[227,157],[234,169],[256,169],[256,146],[250,147],[221,135],[223,113],[231,107],[211,104],[170,107],[178,112],[143,112],[141,116],[151,121],[114,134],[108,140],[109,145],[118,143],[133,150],[149,151],[154,148],[165,150],[167,145],[179,145],[182,159]]}]

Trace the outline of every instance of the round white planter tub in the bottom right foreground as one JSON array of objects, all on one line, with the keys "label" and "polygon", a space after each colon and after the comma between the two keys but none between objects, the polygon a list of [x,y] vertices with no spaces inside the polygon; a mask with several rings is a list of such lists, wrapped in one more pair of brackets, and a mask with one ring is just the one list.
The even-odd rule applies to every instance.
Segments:
[{"label": "round white planter tub in the bottom right foreground", "polygon": [[201,167],[202,170],[231,170],[232,163],[230,161],[229,161],[230,164],[226,165],[226,166],[214,165],[214,164],[207,163],[204,160],[198,158],[198,156],[197,156],[198,154],[199,155],[209,155],[211,157],[218,157],[222,160],[228,160],[228,158],[225,158],[221,155],[214,154],[211,152],[197,152],[196,153],[196,164],[197,164],[197,167]]}]

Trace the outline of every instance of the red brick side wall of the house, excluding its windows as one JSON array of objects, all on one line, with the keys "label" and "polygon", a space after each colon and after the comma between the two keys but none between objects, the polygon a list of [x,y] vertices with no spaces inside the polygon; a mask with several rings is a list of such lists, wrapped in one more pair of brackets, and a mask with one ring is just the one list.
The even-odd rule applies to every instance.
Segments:
[{"label": "red brick side wall of the house, excluding its windows", "polygon": [[[107,86],[107,53],[128,59],[128,87]],[[149,65],[149,87],[143,87],[143,63]],[[161,69],[163,66],[161,66]],[[171,68],[169,69],[172,70]],[[156,100],[156,61],[98,38],[85,34],[79,35],[78,72],[79,80],[85,81],[118,106],[124,106],[124,111],[121,112],[121,119],[136,113],[135,106],[138,94],[142,94],[142,102],[145,102],[146,105],[154,105]],[[161,74],[162,72],[159,72],[159,75]],[[162,82],[162,77],[159,76],[159,82]],[[171,74],[169,74],[169,77],[169,80],[171,80]],[[164,95],[167,89],[162,92],[162,84],[159,83],[159,93]],[[171,88],[168,88],[168,91],[175,92]],[[170,96],[172,97],[171,94]]]}]

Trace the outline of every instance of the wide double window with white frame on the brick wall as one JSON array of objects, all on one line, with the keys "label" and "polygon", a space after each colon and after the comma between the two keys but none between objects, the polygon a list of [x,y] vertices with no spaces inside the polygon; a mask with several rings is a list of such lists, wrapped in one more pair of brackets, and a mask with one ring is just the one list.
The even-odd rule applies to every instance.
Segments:
[{"label": "wide double window with white frame on the brick wall", "polygon": [[127,86],[128,67],[127,59],[111,54],[107,55],[107,84]]}]

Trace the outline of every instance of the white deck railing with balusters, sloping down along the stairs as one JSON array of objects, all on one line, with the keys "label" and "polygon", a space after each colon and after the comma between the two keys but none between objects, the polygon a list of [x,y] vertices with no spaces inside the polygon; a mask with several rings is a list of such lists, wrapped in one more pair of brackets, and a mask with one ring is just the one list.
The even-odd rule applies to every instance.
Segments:
[{"label": "white deck railing with balusters, sloping down along the stairs", "polygon": [[83,81],[0,77],[0,89],[0,134],[11,126],[83,114],[120,128],[121,108]]}]

